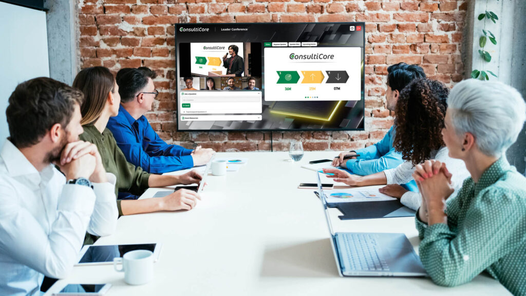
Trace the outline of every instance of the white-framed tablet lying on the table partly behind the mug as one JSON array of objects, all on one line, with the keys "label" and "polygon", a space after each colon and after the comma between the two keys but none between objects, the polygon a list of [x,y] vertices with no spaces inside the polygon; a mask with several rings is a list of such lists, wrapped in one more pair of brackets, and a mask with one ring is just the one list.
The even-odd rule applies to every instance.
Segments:
[{"label": "white-framed tablet lying on the table partly behind the mug", "polygon": [[154,262],[159,259],[162,243],[139,243],[139,244],[110,244],[97,245],[87,244],[82,247],[78,255],[76,266],[113,264],[113,258],[123,257],[129,251],[149,250],[154,252]]}]

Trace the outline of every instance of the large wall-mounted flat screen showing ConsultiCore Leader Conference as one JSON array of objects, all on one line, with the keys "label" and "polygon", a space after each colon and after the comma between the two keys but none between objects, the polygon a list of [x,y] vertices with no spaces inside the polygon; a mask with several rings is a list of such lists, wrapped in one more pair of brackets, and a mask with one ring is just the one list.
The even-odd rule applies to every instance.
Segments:
[{"label": "large wall-mounted flat screen showing ConsultiCore Leader Conference", "polygon": [[363,130],[364,29],[176,24],[177,130]]}]

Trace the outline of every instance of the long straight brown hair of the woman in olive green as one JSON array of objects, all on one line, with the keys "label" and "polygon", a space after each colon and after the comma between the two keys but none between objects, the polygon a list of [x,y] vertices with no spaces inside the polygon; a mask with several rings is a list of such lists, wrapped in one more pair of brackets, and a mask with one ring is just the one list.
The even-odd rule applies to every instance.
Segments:
[{"label": "long straight brown hair of the woman in olive green", "polygon": [[80,124],[94,123],[100,117],[109,92],[115,92],[114,82],[112,73],[106,67],[85,68],[77,74],[73,87],[82,90],[86,98],[84,104],[80,106],[82,114]]}]

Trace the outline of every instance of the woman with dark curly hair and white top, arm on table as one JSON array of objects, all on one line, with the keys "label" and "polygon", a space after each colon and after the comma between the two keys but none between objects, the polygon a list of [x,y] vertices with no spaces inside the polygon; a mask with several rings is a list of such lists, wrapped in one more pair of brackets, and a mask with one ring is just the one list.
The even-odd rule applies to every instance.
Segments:
[{"label": "woman with dark curly hair and white top, arm on table", "polygon": [[388,184],[380,192],[399,198],[404,206],[417,210],[421,197],[399,184],[412,180],[415,166],[428,159],[440,159],[454,171],[453,187],[459,189],[462,181],[469,177],[466,165],[458,159],[449,157],[449,151],[442,139],[441,130],[446,116],[449,89],[436,80],[419,79],[412,81],[400,93],[396,106],[393,147],[402,154],[403,164],[395,169],[384,170],[368,176],[351,175],[339,169],[324,169],[333,173],[336,182],[351,186],[370,186]]}]

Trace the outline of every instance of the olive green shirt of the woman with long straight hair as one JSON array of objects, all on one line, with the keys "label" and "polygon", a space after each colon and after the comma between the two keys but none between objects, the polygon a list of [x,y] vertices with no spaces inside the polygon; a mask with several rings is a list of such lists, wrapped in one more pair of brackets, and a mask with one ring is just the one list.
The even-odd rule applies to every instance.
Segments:
[{"label": "olive green shirt of the woman with long straight hair", "polygon": [[[117,177],[115,183],[115,197],[119,191],[130,192],[133,195],[141,195],[148,189],[148,179],[150,173],[143,171],[143,168],[130,164],[117,146],[117,142],[109,129],[104,129],[102,134],[93,125],[83,126],[84,133],[80,135],[83,141],[92,142],[99,150],[102,163],[107,172],[113,173]],[[120,200],[117,200],[119,217],[123,215],[120,208]]]}]

